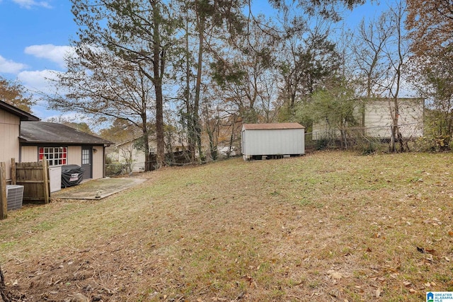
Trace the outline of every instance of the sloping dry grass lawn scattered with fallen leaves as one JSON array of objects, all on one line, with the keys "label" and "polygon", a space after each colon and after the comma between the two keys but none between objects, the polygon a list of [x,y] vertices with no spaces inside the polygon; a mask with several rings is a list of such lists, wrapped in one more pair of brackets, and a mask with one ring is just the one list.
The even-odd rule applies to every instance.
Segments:
[{"label": "sloping dry grass lawn scattered with fallen leaves", "polygon": [[0,265],[19,301],[425,301],[453,291],[452,164],[320,152],[164,168],[102,200],[11,211]]}]

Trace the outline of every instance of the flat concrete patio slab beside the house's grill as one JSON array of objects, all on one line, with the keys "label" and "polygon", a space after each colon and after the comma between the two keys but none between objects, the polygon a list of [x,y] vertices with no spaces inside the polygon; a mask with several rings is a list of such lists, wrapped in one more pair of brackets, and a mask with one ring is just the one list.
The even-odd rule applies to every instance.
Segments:
[{"label": "flat concrete patio slab beside the house's grill", "polygon": [[59,199],[103,199],[144,182],[139,178],[101,178],[88,180],[80,185],[62,188],[51,194],[52,198]]}]

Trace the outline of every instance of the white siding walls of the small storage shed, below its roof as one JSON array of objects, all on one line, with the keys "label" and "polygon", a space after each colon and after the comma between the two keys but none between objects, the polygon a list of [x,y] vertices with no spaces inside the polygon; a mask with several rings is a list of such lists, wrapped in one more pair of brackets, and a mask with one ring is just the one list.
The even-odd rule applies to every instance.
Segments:
[{"label": "white siding walls of the small storage shed, below its roof", "polygon": [[243,129],[243,158],[304,154],[304,139],[304,129]]}]

